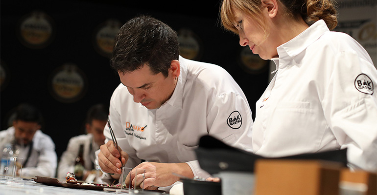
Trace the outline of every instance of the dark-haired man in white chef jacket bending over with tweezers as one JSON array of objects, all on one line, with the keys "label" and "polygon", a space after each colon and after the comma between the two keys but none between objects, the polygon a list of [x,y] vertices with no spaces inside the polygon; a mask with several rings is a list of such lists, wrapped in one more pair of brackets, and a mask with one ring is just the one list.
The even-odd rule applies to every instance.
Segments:
[{"label": "dark-haired man in white chef jacket bending over with tweezers", "polygon": [[121,161],[107,125],[98,158],[113,178],[122,164],[146,170],[144,188],[172,185],[179,180],[172,173],[206,178],[193,151],[204,135],[252,150],[252,113],[236,81],[217,65],[180,57],[176,32],[165,23],[144,16],[125,23],[111,66],[121,81],[109,115]]}]

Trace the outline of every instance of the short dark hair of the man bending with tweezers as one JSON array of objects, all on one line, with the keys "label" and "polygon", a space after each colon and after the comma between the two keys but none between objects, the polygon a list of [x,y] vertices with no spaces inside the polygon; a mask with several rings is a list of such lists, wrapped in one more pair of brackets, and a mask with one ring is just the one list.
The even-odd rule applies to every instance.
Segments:
[{"label": "short dark hair of the man bending with tweezers", "polygon": [[119,30],[110,59],[117,72],[130,73],[149,65],[152,74],[168,76],[171,61],[179,57],[177,33],[148,16],[128,20]]}]

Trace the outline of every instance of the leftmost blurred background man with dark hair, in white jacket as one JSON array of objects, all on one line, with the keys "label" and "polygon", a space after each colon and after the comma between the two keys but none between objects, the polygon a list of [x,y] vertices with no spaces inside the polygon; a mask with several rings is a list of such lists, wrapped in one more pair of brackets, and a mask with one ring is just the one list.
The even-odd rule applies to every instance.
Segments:
[{"label": "leftmost blurred background man with dark hair, in white jacket", "polygon": [[[23,158],[22,176],[54,177],[57,166],[55,144],[41,128],[42,115],[30,104],[20,104],[14,113],[13,126],[0,131],[0,148],[7,147],[12,156]],[[4,153],[0,153],[2,158]],[[17,171],[20,175],[21,170]]]}]

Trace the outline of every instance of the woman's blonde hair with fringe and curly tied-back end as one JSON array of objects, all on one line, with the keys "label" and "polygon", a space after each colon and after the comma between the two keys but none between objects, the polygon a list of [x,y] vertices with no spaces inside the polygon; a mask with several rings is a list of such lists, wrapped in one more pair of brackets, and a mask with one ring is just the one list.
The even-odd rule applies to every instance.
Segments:
[{"label": "woman's blonde hair with fringe and curly tied-back end", "polygon": [[[283,8],[283,15],[299,20],[301,17],[309,26],[318,20],[325,20],[330,30],[337,25],[335,0],[277,0]],[[283,6],[282,6],[283,5]],[[220,18],[225,29],[238,34],[235,27],[235,13],[237,9],[256,20],[259,27],[267,32],[264,18],[261,14],[261,0],[223,0]],[[267,34],[267,33],[266,33]]]}]

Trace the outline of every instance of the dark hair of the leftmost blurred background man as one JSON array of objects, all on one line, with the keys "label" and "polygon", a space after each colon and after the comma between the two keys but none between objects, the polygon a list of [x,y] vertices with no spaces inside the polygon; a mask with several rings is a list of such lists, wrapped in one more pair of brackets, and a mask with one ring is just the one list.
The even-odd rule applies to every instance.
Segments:
[{"label": "dark hair of the leftmost blurred background man", "polygon": [[37,122],[38,124],[41,124],[42,114],[35,106],[27,103],[22,103],[16,107],[14,120]]}]

